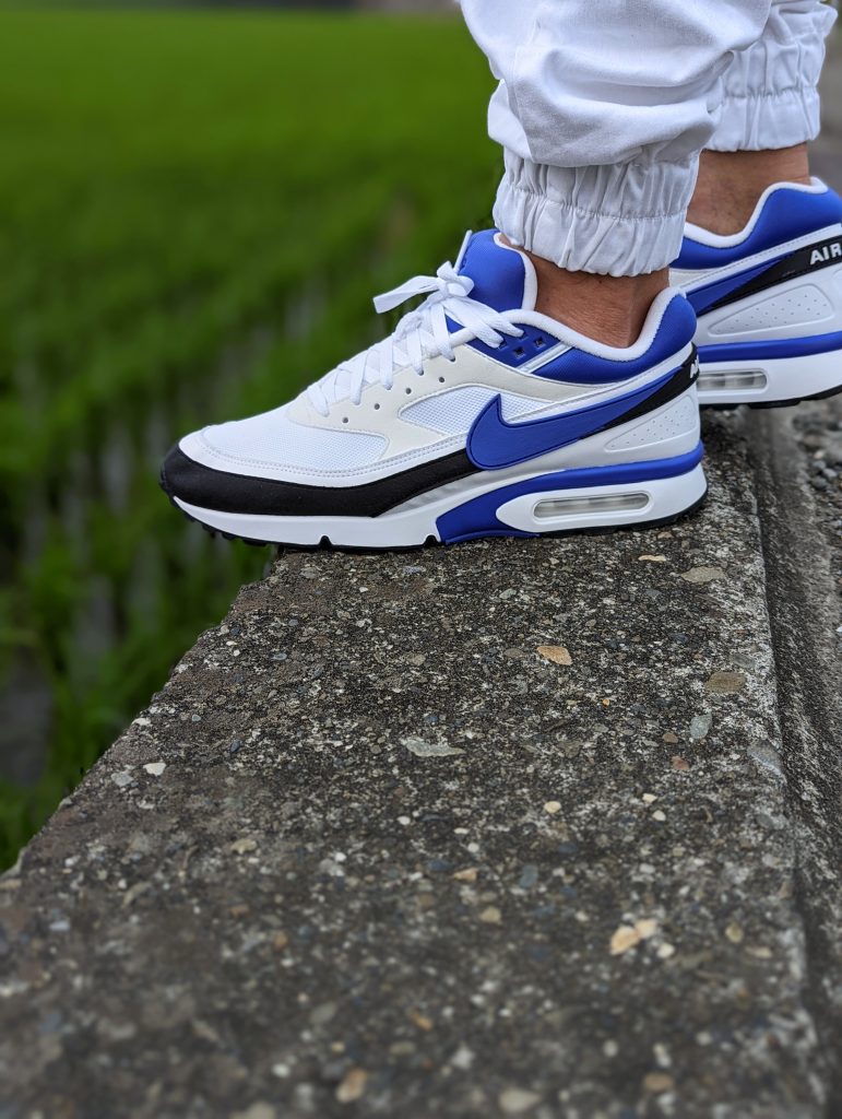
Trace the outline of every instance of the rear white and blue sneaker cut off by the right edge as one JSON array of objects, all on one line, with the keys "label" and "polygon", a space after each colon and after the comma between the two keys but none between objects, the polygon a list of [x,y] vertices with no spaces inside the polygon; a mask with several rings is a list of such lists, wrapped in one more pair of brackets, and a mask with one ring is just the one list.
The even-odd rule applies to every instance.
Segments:
[{"label": "rear white and blue sneaker cut off by the right edge", "polygon": [[699,319],[702,406],[842,391],[842,198],[823,182],[769,187],[734,236],[688,225],[672,282]]}]

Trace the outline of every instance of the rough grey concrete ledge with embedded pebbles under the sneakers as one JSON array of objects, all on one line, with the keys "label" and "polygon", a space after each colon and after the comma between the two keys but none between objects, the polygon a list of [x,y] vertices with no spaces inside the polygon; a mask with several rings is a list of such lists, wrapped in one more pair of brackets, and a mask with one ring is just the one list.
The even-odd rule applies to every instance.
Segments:
[{"label": "rough grey concrete ledge with embedded pebbles under the sneakers", "polygon": [[[804,896],[836,900],[835,716],[802,769],[776,423],[708,420],[669,529],[244,589],[0,880],[3,1119],[842,1106]],[[808,708],[827,649],[793,650]]]}]

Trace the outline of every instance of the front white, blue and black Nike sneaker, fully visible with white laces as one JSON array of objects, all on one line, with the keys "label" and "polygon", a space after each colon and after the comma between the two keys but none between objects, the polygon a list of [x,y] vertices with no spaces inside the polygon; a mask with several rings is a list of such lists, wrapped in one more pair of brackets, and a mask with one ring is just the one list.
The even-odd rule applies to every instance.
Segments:
[{"label": "front white, blue and black Nike sneaker, fully visible with white laces", "polygon": [[530,261],[493,231],[395,333],[273,412],[182,439],[174,504],[210,529],[313,547],[410,547],[673,519],[704,495],[684,297],[613,349],[534,311]]}]

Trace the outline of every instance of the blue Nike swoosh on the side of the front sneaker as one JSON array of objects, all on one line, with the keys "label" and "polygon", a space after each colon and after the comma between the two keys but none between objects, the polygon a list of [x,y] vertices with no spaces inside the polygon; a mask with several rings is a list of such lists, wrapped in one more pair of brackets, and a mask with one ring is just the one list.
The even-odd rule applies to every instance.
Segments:
[{"label": "blue Nike swoosh on the side of the front sneaker", "polygon": [[527,459],[536,459],[539,454],[587,439],[647,399],[677,372],[672,369],[665,377],[625,396],[522,423],[507,423],[501,397],[495,396],[474,420],[467,433],[467,457],[481,470],[502,470],[503,467],[514,467]]}]

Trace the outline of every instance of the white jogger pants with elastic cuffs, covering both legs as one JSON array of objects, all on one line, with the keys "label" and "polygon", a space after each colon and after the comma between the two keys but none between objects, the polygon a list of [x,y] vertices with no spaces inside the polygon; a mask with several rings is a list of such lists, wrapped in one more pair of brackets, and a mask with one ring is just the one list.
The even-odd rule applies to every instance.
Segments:
[{"label": "white jogger pants with elastic cuffs, covering both legs", "polygon": [[461,3],[500,79],[494,220],[562,267],[665,267],[702,148],[787,148],[819,132],[835,18],[821,0]]}]

